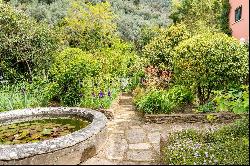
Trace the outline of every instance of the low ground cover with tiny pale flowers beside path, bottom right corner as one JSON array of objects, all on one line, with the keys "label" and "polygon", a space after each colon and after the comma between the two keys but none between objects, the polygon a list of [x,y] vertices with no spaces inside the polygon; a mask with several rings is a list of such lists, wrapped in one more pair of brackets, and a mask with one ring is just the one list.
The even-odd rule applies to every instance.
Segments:
[{"label": "low ground cover with tiny pale flowers beside path, bottom right corner", "polygon": [[172,133],[163,148],[163,163],[166,165],[249,164],[249,120],[237,121],[215,132],[187,130]]}]

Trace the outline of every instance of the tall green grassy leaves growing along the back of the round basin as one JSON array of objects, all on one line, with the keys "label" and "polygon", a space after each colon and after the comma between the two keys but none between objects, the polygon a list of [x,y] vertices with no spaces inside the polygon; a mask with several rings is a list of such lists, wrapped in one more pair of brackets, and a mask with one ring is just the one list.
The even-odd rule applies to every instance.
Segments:
[{"label": "tall green grassy leaves growing along the back of the round basin", "polygon": [[[51,101],[48,97],[48,82],[0,84],[0,112],[23,108],[64,106],[61,102]],[[99,109],[109,108],[112,101],[117,97],[119,90],[112,89],[110,96],[107,94],[103,98],[86,97],[82,98],[75,106]]]}]

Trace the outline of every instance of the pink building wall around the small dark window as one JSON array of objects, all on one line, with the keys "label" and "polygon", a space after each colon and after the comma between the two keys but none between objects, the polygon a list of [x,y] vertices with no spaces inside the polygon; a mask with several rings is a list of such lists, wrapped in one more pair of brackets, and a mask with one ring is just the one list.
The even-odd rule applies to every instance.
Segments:
[{"label": "pink building wall around the small dark window", "polygon": [[[249,0],[229,0],[229,2],[231,5],[229,24],[232,29],[232,36],[249,42]],[[241,20],[235,22],[235,9],[241,5]]]}]

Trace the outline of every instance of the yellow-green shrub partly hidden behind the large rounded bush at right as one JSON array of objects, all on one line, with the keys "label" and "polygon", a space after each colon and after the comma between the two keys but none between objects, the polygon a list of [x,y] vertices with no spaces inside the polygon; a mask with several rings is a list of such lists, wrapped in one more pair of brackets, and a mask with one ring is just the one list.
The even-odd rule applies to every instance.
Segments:
[{"label": "yellow-green shrub partly hidden behind the large rounded bush at right", "polygon": [[172,25],[153,38],[145,46],[143,54],[151,65],[172,70],[172,50],[179,42],[188,38],[189,34],[184,24]]}]

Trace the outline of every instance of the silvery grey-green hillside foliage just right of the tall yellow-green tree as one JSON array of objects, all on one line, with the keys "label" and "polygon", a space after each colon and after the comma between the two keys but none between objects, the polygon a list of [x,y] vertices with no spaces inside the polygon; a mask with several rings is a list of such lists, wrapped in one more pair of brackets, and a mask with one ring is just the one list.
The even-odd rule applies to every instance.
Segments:
[{"label": "silvery grey-green hillside foliage just right of the tall yellow-green tree", "polygon": [[125,40],[138,41],[142,38],[142,28],[166,26],[169,0],[111,0],[113,11],[118,15],[115,22],[119,34]]}]

